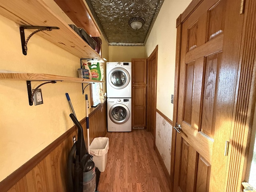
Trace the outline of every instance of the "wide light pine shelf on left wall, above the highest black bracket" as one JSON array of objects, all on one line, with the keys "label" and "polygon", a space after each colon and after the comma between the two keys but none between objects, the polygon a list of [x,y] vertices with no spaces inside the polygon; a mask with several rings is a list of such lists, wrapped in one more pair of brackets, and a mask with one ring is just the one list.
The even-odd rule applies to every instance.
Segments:
[{"label": "wide light pine shelf on left wall, above the highest black bracket", "polygon": [[36,34],[79,58],[94,58],[95,62],[104,62],[102,57],[57,16],[43,0],[0,0],[0,14],[19,25],[59,27],[59,30],[43,31]]}]

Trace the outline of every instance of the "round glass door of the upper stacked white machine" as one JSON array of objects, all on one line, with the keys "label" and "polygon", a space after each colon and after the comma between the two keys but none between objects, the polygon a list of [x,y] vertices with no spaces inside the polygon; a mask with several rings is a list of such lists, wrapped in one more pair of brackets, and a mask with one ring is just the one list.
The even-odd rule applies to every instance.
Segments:
[{"label": "round glass door of the upper stacked white machine", "polygon": [[115,89],[123,89],[129,84],[130,75],[126,69],[116,67],[109,72],[108,82]]}]

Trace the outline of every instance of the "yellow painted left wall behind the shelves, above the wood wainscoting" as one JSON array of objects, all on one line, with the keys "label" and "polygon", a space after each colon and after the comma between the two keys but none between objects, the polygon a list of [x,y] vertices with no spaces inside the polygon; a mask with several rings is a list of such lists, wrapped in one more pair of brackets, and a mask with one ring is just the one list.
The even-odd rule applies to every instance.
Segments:
[{"label": "yellow painted left wall behind the shelves, above the wood wainscoting", "polygon": [[[33,35],[22,54],[19,26],[0,15],[0,70],[77,77],[80,58]],[[27,37],[30,32],[25,31]],[[102,38],[102,57],[108,45]],[[36,88],[43,82],[32,82]],[[0,80],[0,181],[38,154],[74,124],[68,92],[78,120],[86,116],[80,83],[57,82],[40,87],[44,104],[29,106],[26,81]],[[86,88],[89,94],[89,89]]]}]

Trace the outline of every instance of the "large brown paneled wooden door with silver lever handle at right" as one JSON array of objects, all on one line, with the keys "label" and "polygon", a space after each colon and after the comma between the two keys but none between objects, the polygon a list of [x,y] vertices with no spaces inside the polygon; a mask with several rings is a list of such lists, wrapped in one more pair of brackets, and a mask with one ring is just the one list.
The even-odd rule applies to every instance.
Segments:
[{"label": "large brown paneled wooden door with silver lever handle at right", "polygon": [[238,1],[203,0],[179,29],[175,192],[226,191],[224,151],[232,126],[239,48],[228,44],[238,42],[234,36],[240,37],[240,28],[234,26],[242,23],[232,17],[235,4]]}]

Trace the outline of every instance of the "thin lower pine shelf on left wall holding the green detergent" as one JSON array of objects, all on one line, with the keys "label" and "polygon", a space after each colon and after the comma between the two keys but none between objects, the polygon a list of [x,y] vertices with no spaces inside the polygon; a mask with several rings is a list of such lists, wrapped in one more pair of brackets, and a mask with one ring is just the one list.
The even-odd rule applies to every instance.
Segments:
[{"label": "thin lower pine shelf on left wall holding the green detergent", "polygon": [[2,80],[26,80],[26,81],[64,81],[74,83],[104,83],[105,81],[98,81],[92,79],[83,79],[76,77],[58,76],[51,74],[39,73],[0,73]]}]

